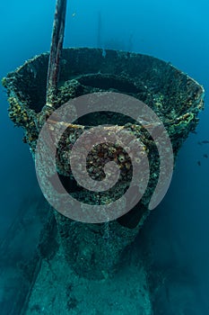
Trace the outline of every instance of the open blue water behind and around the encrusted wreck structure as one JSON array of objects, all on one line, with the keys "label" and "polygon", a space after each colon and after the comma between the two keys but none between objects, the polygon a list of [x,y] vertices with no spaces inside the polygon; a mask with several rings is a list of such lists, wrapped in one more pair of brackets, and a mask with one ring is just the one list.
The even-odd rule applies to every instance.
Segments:
[{"label": "open blue water behind and around the encrusted wreck structure", "polygon": [[[1,77],[24,60],[48,51],[54,9],[54,1],[0,0]],[[197,144],[209,139],[209,3],[68,1],[65,47],[97,47],[99,12],[103,49],[132,49],[170,61],[205,86],[205,111],[199,115],[197,133],[190,134],[181,148],[170,190],[150,224],[152,238],[158,240],[153,245],[156,261],[161,266],[173,261],[196,277],[201,303],[193,313],[209,314],[209,157],[204,157],[209,156],[209,144]],[[22,202],[34,200],[40,192],[29,148],[22,143],[22,130],[14,128],[7,116],[3,87],[0,94],[0,238],[4,238]],[[173,243],[178,248],[175,255],[168,249]]]}]

